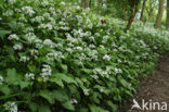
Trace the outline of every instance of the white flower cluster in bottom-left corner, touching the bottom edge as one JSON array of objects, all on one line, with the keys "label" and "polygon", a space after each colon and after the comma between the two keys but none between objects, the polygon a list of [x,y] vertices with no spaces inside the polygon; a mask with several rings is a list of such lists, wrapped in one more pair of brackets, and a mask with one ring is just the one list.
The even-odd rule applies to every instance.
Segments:
[{"label": "white flower cluster in bottom-left corner, touching the bottom edge", "polygon": [[4,108],[8,112],[18,112],[17,104],[15,102],[6,102]]}]

